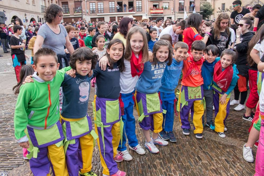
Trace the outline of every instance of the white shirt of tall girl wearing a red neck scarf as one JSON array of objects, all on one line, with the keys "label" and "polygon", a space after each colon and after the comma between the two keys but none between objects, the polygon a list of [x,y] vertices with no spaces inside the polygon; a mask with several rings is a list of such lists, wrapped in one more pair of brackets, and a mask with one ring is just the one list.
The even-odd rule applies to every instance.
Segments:
[{"label": "white shirt of tall girl wearing a red neck scarf", "polygon": [[[137,55],[136,55],[137,57]],[[132,77],[130,61],[124,59],[125,71],[120,73],[120,93],[131,93],[136,87],[138,75]]]}]

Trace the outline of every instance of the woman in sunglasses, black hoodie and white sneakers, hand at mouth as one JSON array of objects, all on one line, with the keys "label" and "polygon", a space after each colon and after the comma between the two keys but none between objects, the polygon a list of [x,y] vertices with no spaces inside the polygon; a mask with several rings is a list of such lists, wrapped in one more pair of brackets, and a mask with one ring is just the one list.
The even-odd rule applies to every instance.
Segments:
[{"label": "woman in sunglasses, black hoodie and white sneakers, hand at mouth", "polygon": [[[247,98],[248,79],[249,79],[247,50],[248,50],[248,43],[254,35],[254,32],[249,31],[249,28],[251,28],[252,26],[252,20],[253,20],[253,17],[243,17],[237,24],[238,28],[236,30],[236,41],[235,41],[234,48],[238,52],[238,58],[235,64],[237,65],[237,69],[239,72],[238,74],[239,79],[237,81],[237,85],[234,88],[234,94],[235,94],[234,100],[230,102],[230,105],[238,104],[238,106],[234,108],[235,111],[244,110],[244,107],[245,107],[244,103]],[[249,83],[250,81],[252,81],[252,77],[249,80]],[[240,102],[239,102],[239,94],[241,94]],[[250,102],[249,99],[248,99],[248,102]],[[253,103],[247,103],[247,107],[248,106],[252,107],[252,104]],[[254,106],[252,108],[254,108]],[[248,108],[248,111],[246,111],[246,113],[243,115],[244,120],[252,121],[253,119],[253,117],[251,116],[252,108],[251,109]]]}]

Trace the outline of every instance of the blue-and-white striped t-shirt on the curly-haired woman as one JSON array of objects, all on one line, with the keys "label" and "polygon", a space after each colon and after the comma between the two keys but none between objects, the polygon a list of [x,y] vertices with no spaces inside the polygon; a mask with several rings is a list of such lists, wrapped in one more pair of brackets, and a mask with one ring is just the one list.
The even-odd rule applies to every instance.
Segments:
[{"label": "blue-and-white striped t-shirt on the curly-haired woman", "polygon": [[60,26],[60,33],[55,34],[50,27],[44,23],[39,28],[37,35],[43,37],[44,42],[42,47],[52,49],[56,54],[65,54],[64,45],[66,43],[65,37],[67,37],[67,31],[65,27],[61,24]]}]

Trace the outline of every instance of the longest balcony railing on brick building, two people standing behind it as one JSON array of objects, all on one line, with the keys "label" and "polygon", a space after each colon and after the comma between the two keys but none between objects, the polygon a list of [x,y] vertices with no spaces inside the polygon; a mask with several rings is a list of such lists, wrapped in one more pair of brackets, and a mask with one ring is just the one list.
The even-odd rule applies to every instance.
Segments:
[{"label": "longest balcony railing on brick building, two people standing behind it", "polygon": [[105,7],[105,8],[90,8],[90,14],[95,13],[116,13],[116,12],[135,12],[135,7]]}]

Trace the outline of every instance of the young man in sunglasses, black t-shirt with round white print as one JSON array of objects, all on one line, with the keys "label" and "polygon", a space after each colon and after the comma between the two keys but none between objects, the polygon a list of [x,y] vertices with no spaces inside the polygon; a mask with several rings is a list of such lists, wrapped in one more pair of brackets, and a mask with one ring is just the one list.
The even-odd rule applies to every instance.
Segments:
[{"label": "young man in sunglasses, black t-shirt with round white print", "polygon": [[230,15],[231,25],[239,23],[240,19],[243,18],[244,15],[250,13],[249,9],[241,7],[242,2],[240,0],[236,0],[232,4],[234,11]]}]

